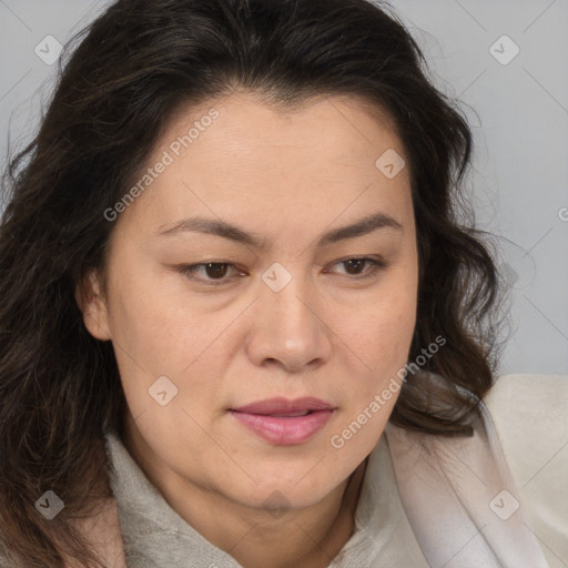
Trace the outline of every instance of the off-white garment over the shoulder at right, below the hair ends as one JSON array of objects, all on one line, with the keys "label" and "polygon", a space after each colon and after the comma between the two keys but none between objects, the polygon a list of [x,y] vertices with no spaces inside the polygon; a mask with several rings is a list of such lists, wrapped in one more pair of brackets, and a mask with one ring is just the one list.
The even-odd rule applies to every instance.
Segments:
[{"label": "off-white garment over the shoulder at right, below the hair ends", "polygon": [[[405,511],[428,562],[568,566],[568,377],[503,377],[485,403],[469,438],[386,429]],[[521,456],[529,469],[519,467]],[[546,471],[554,489],[535,501],[525,489],[528,481],[542,489]]]}]

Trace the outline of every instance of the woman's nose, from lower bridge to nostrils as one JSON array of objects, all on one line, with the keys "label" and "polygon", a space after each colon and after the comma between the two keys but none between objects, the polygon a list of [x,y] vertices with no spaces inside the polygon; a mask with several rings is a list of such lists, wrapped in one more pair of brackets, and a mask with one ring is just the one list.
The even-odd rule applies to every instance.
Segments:
[{"label": "woman's nose, from lower bridge to nostrils", "polygon": [[292,277],[275,292],[261,283],[255,314],[246,342],[256,366],[280,366],[288,373],[316,368],[332,353],[332,331],[325,323],[323,303],[311,284]]}]

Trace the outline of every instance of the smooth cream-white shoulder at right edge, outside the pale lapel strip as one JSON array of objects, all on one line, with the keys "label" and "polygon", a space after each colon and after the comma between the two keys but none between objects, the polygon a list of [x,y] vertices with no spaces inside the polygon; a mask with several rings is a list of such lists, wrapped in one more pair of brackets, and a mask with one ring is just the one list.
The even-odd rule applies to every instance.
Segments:
[{"label": "smooth cream-white shoulder at right edge, outside the pale lapel strip", "polygon": [[[568,558],[568,375],[504,375],[484,398],[530,529]],[[555,564],[556,562],[556,564]]]}]

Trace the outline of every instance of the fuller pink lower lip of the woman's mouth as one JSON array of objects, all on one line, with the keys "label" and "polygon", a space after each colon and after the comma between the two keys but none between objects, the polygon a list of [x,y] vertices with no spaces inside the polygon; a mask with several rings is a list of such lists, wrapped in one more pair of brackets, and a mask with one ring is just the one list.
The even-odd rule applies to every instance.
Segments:
[{"label": "fuller pink lower lip of the woman's mouth", "polygon": [[332,413],[333,410],[315,410],[305,416],[286,418],[231,410],[241,424],[276,445],[294,445],[308,440],[325,426]]}]

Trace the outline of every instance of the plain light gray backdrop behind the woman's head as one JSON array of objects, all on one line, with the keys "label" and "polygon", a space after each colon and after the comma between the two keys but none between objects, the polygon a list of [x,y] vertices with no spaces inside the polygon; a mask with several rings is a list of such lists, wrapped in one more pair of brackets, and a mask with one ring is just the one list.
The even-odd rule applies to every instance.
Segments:
[{"label": "plain light gray backdrop behind the woman's head", "polygon": [[[57,65],[36,47],[47,36],[64,44],[108,4],[0,0],[2,170],[8,141],[30,139],[54,84]],[[474,130],[467,187],[511,292],[500,373],[568,374],[568,0],[392,4]]]}]

